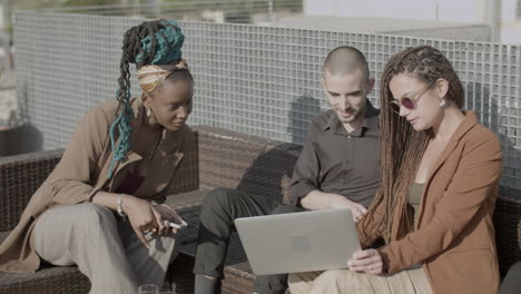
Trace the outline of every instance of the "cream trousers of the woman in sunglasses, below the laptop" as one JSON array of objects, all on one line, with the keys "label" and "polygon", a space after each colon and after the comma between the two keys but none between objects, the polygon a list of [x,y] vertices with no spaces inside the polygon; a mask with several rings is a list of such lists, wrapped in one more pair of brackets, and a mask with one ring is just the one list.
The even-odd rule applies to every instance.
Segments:
[{"label": "cream trousers of the woman in sunglasses, below the laptop", "polygon": [[422,267],[409,268],[392,275],[368,275],[350,270],[291,274],[292,294],[430,294]]}]

